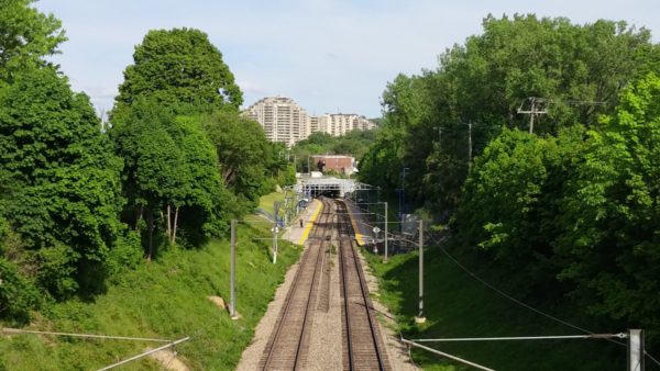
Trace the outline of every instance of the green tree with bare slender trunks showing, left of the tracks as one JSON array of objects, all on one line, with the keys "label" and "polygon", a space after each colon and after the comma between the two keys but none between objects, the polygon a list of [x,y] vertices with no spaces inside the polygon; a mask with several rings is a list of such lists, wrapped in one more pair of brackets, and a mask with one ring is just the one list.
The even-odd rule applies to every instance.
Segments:
[{"label": "green tree with bare slender trunks showing, left of the tracks", "polygon": [[131,215],[125,220],[135,229],[145,228],[147,259],[155,255],[160,226],[170,244],[179,225],[185,241],[194,245],[221,231],[226,191],[218,157],[199,121],[176,117],[154,99],[140,98],[112,122],[110,135],[125,161],[124,215]]}]

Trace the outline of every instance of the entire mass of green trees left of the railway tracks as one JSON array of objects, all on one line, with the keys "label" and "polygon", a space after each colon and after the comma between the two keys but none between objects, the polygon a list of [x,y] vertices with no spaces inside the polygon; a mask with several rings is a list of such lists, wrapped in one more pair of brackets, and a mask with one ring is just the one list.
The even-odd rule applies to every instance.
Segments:
[{"label": "entire mass of green trees left of the railway tracks", "polygon": [[[169,245],[199,247],[293,167],[275,159],[220,52],[191,29],[135,49],[109,125],[45,57],[65,40],[29,0],[0,13],[0,317],[103,292]],[[176,74],[175,74],[176,72]],[[50,304],[48,304],[50,305]]]}]

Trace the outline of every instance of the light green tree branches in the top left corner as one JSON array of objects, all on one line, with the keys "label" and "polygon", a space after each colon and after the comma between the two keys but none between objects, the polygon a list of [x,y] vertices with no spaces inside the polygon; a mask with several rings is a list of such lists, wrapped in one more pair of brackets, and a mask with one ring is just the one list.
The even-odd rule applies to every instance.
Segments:
[{"label": "light green tree branches in the top left corner", "polygon": [[0,0],[0,79],[26,65],[44,66],[66,41],[59,20],[31,8],[34,0]]}]

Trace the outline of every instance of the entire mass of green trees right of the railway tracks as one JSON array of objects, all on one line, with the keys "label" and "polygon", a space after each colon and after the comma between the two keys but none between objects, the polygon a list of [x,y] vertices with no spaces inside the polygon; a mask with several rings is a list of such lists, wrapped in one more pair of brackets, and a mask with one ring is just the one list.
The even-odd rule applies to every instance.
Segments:
[{"label": "entire mass of green trees right of the railway tracks", "polygon": [[452,245],[516,296],[569,297],[657,344],[660,49],[623,22],[483,25],[387,86],[361,178],[451,222]]}]

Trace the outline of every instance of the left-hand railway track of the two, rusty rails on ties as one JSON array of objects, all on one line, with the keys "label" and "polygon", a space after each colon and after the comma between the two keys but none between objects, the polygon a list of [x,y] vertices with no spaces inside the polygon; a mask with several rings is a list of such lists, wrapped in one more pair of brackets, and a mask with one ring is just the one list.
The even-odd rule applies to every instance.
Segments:
[{"label": "left-hand railway track of the two, rusty rails on ties", "polygon": [[323,209],[315,223],[312,238],[300,259],[300,266],[275,328],[260,361],[263,370],[301,370],[305,368],[309,348],[311,325],[316,308],[319,274],[323,251],[329,239],[328,224],[331,223],[332,204],[322,200]]}]

